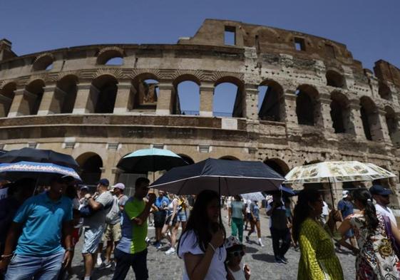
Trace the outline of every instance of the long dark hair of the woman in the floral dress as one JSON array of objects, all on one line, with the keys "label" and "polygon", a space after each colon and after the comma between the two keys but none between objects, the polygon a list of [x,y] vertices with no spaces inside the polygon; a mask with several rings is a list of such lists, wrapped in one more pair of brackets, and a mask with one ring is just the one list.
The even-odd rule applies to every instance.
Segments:
[{"label": "long dark hair of the woman in the floral dress", "polygon": [[368,227],[370,232],[374,232],[376,227],[378,227],[379,219],[376,217],[376,209],[374,203],[372,203],[371,193],[364,188],[360,188],[354,190],[352,196],[354,200],[359,201],[364,206],[366,227]]}]

